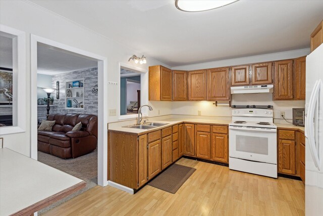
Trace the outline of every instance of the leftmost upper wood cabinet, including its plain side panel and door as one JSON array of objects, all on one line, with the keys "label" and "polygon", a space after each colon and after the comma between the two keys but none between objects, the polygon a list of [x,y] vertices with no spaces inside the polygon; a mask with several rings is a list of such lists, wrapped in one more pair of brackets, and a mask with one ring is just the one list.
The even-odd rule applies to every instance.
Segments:
[{"label": "leftmost upper wood cabinet, including its plain side panel and door", "polygon": [[172,70],[161,65],[149,67],[149,101],[172,100]]}]

